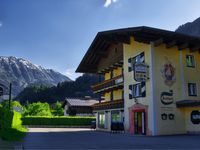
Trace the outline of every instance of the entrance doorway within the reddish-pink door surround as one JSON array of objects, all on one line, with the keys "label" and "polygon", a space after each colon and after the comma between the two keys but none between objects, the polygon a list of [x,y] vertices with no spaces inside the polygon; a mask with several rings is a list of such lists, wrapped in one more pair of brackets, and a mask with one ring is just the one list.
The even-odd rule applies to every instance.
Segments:
[{"label": "entrance doorway within the reddish-pink door surround", "polygon": [[133,112],[133,122],[134,122],[134,133],[135,134],[146,134],[145,128],[145,112],[144,111],[135,111]]}]

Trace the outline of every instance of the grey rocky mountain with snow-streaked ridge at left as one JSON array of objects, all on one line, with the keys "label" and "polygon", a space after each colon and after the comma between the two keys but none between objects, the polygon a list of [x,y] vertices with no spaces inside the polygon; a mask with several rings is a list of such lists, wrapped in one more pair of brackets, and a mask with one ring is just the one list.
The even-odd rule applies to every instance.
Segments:
[{"label": "grey rocky mountain with snow-streaked ridge at left", "polygon": [[0,56],[0,84],[9,87],[11,82],[14,96],[30,85],[52,86],[63,81],[71,80],[59,72],[34,65],[25,59]]}]

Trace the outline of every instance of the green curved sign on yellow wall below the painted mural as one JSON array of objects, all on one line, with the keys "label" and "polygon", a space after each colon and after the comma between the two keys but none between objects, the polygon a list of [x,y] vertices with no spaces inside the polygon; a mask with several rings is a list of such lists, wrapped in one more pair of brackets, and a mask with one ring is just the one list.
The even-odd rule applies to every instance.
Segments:
[{"label": "green curved sign on yellow wall below the painted mural", "polygon": [[170,90],[169,92],[162,92],[160,94],[161,103],[164,105],[170,105],[173,103],[173,91]]}]

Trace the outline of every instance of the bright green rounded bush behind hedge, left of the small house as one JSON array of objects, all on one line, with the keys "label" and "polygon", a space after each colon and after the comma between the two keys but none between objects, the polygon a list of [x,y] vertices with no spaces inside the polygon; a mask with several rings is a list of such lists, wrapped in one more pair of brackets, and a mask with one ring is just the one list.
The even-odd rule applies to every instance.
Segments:
[{"label": "bright green rounded bush behind hedge, left of the small house", "polygon": [[48,103],[32,103],[25,107],[24,116],[52,116]]}]

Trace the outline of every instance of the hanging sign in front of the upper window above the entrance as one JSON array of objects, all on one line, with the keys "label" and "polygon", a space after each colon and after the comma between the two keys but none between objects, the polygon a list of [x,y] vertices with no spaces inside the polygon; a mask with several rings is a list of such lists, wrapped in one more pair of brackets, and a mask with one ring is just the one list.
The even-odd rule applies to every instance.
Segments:
[{"label": "hanging sign in front of the upper window above the entrance", "polygon": [[145,82],[149,78],[149,66],[145,63],[135,63],[134,79],[137,82]]}]

